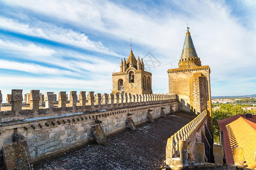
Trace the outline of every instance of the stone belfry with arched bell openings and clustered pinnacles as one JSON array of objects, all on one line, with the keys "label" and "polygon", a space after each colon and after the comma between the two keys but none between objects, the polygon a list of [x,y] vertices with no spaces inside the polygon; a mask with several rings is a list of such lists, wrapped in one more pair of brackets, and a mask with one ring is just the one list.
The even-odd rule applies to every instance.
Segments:
[{"label": "stone belfry with arched bell openings and clustered pinnacles", "polygon": [[144,71],[143,59],[136,59],[131,50],[126,61],[120,64],[120,72],[113,73],[112,93],[152,94],[152,74]]}]

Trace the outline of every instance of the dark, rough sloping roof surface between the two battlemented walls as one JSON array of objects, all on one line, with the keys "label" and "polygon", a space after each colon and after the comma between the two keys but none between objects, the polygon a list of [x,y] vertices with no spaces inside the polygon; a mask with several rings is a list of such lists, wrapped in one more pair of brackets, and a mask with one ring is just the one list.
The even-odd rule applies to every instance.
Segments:
[{"label": "dark, rough sloping roof surface between the two battlemented walls", "polygon": [[160,169],[165,165],[166,142],[194,116],[177,112],[137,131],[126,129],[108,137],[107,146],[89,143],[79,150],[34,165],[34,169]]}]

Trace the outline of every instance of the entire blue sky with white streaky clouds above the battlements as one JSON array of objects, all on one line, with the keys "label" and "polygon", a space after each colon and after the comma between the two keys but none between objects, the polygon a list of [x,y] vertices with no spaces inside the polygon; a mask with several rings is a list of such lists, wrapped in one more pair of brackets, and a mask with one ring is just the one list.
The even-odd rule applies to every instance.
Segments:
[{"label": "entire blue sky with white streaky clouds above the battlements", "polygon": [[256,94],[255,21],[254,0],[0,1],[0,90],[110,93],[132,37],[136,57],[159,61],[153,92],[167,93],[189,23],[212,96]]}]

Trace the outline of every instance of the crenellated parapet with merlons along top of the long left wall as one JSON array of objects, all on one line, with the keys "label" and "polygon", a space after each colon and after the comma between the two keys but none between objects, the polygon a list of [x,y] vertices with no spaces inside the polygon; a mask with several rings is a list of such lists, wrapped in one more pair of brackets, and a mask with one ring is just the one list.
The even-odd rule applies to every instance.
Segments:
[{"label": "crenellated parapet with merlons along top of the long left wall", "polygon": [[[77,112],[92,112],[98,110],[111,110],[125,107],[134,107],[138,105],[161,104],[165,102],[176,101],[176,95],[167,94],[147,94],[147,95],[133,95],[133,94],[97,94],[88,92],[86,98],[85,91],[81,91],[79,97],[75,97],[76,91],[71,91],[67,103],[66,92],[59,93],[58,105],[55,103],[54,94],[46,92],[46,108],[39,109],[39,91],[31,90],[30,109],[22,109],[22,90],[13,90],[13,102],[11,101],[10,111],[0,112],[0,123],[8,121],[24,120],[26,118],[35,117],[49,117],[59,116],[67,113]],[[15,96],[17,96],[15,98]],[[79,100],[77,100],[79,99]],[[0,107],[1,109],[1,107]]]}]

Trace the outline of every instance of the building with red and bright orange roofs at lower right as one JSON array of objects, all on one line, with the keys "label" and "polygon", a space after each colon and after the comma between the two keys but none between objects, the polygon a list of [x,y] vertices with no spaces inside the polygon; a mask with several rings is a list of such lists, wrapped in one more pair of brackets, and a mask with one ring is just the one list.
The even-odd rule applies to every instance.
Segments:
[{"label": "building with red and bright orange roofs at lower right", "polygon": [[256,169],[256,115],[236,115],[218,120],[226,164],[234,164],[232,148],[243,148],[244,166]]}]

